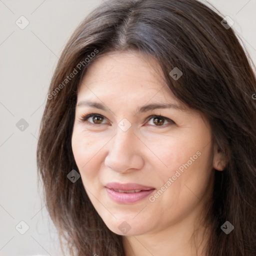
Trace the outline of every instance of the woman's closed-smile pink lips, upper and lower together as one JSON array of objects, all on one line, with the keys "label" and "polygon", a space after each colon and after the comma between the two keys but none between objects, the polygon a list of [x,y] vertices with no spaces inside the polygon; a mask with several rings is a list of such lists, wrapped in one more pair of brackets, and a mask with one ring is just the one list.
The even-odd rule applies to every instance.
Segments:
[{"label": "woman's closed-smile pink lips, upper and lower together", "polygon": [[[121,184],[117,182],[105,185],[108,196],[118,203],[132,203],[145,198],[155,189],[151,186],[144,186],[136,183]],[[124,190],[124,191],[115,191]],[[141,190],[138,192],[125,192],[127,190]]]}]

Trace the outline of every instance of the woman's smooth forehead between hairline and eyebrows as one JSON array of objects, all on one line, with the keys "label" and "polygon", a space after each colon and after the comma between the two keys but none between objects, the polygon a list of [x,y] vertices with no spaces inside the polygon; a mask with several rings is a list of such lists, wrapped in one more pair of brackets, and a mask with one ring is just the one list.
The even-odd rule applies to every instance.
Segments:
[{"label": "woman's smooth forehead between hairline and eyebrows", "polygon": [[173,100],[178,102],[163,79],[152,56],[138,52],[111,52],[93,61],[83,76],[77,98],[119,97],[119,99]]}]

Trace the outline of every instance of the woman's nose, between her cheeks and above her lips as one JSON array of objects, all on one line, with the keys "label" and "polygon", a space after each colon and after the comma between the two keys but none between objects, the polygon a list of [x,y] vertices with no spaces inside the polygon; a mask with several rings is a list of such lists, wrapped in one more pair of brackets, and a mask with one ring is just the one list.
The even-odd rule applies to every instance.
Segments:
[{"label": "woman's nose, between her cheeks and above her lips", "polygon": [[120,173],[142,168],[142,144],[132,126],[126,131],[117,127],[116,134],[108,143],[105,165]]}]

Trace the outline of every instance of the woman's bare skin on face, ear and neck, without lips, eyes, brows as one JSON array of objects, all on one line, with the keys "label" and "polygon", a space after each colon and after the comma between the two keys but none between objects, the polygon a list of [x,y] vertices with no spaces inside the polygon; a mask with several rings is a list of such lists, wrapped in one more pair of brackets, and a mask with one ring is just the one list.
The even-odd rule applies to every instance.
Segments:
[{"label": "woman's bare skin on face, ear and neck, without lips, eyes, brows", "polygon": [[[137,52],[111,52],[89,65],[77,103],[93,100],[107,110],[76,105],[73,155],[96,211],[111,231],[123,235],[126,256],[196,255],[196,248],[198,255],[204,255],[205,205],[212,190],[213,168],[222,170],[224,160],[212,143],[203,114],[175,98],[156,70],[160,69],[153,57]],[[185,110],[136,113],[137,107],[153,102],[171,102]],[[92,117],[79,121],[88,112],[103,118],[94,124]],[[153,114],[174,123],[160,119],[164,123],[157,125],[148,118]],[[118,127],[123,118],[131,124],[126,131]],[[200,156],[179,171],[154,201],[146,197],[132,204],[117,203],[104,188],[108,182],[134,182],[157,191],[198,151]],[[123,221],[130,226],[125,234],[118,228]]]}]

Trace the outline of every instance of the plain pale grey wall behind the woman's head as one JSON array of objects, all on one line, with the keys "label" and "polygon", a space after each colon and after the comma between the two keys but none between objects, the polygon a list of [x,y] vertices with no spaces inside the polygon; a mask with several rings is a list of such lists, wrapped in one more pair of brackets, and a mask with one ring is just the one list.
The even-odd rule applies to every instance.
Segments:
[{"label": "plain pale grey wall behind the woman's head", "polygon": [[[37,186],[36,143],[49,81],[68,37],[101,0],[0,0],[0,255],[61,255]],[[255,0],[210,0],[256,63]],[[25,18],[20,16],[24,16]],[[21,19],[21,21],[20,21]],[[26,21],[28,20],[28,21]],[[16,24],[17,22],[18,24]],[[24,26],[25,22],[29,24]],[[25,122],[28,124],[20,126]],[[18,124],[17,124],[18,123]],[[20,130],[23,129],[23,130]],[[28,230],[25,231],[24,221]],[[17,229],[15,228],[17,226]]]}]

